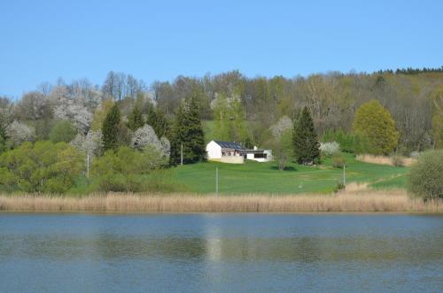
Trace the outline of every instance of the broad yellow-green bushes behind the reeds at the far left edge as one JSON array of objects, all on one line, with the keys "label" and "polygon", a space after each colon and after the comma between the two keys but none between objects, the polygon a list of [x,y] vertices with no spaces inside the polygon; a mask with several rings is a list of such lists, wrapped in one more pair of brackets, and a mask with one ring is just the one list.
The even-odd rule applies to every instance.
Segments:
[{"label": "broad yellow-green bushes behind the reeds at the far left edge", "polygon": [[8,190],[64,193],[80,175],[83,160],[67,143],[23,143],[0,156],[0,184]]}]

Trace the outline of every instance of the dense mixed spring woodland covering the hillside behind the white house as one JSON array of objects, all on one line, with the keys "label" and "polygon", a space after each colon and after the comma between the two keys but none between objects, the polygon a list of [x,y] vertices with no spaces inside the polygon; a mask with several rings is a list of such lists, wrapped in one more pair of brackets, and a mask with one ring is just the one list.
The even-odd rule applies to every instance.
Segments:
[{"label": "dense mixed spring woodland covering the hillside behind the white house", "polygon": [[[361,114],[360,122],[356,121],[355,113],[361,105],[373,100],[377,100],[376,104],[371,103],[378,116],[372,115],[369,109]],[[175,165],[179,163],[179,149],[183,145],[184,163],[193,163],[205,156],[203,120],[212,123],[214,128],[209,139],[241,142],[248,148],[253,145],[271,147],[277,158],[286,160],[293,158],[293,152],[284,147],[291,144],[291,139],[282,134],[293,128],[302,109],[314,122],[311,128],[315,137],[325,143],[338,141],[341,150],[409,155],[441,148],[443,67],[313,74],[295,78],[250,78],[232,71],[206,74],[201,78],[178,76],[173,82],[155,81],[150,86],[130,74],[114,72],[107,74],[102,85],[93,85],[86,79],[71,83],[59,79],[54,84],[41,84],[18,100],[6,96],[0,98],[0,153],[42,148],[42,145],[27,142],[68,143],[69,147],[86,156],[87,166],[76,168],[88,176],[89,160],[96,161],[93,172],[105,172],[109,169],[106,166],[109,162],[100,162],[101,158],[125,162],[129,158],[123,157],[129,156],[130,149],[146,152],[146,146],[151,148],[146,158],[130,155],[133,156],[130,159],[135,162],[151,160],[152,168]],[[360,150],[359,142],[364,139],[357,130],[375,121],[375,117],[381,117],[380,121],[386,118],[387,122],[383,123],[392,123],[392,129],[383,138],[390,141],[388,147],[362,147]],[[379,127],[384,127],[383,123]],[[373,139],[377,137],[382,136],[376,132]],[[346,139],[351,139],[352,145],[346,145]],[[69,153],[68,149],[58,147],[54,152]],[[152,155],[154,149],[158,153]],[[105,150],[114,151],[103,156]],[[18,158],[18,154],[13,156]],[[119,154],[123,157],[118,158]],[[6,175],[12,178],[7,171],[19,162],[16,157],[9,157],[0,159],[4,178]],[[128,174],[131,172],[129,170]],[[23,172],[17,169],[15,173]],[[108,182],[117,181],[113,175],[109,174]],[[60,181],[74,181],[74,178],[66,178]],[[130,176],[119,180],[129,181]],[[13,178],[11,181],[14,182],[12,185],[19,184]],[[43,186],[43,179],[40,181]],[[103,186],[106,184],[103,182]]]}]

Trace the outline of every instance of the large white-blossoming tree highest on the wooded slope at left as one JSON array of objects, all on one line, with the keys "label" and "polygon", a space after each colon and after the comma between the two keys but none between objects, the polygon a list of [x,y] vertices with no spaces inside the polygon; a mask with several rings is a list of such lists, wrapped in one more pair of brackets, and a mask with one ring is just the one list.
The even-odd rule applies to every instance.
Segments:
[{"label": "large white-blossoming tree highest on the wooded slope at left", "polygon": [[82,133],[88,133],[92,121],[92,113],[80,98],[67,98],[65,96],[58,99],[58,104],[54,108],[54,116],[59,120],[69,120],[74,127]]}]

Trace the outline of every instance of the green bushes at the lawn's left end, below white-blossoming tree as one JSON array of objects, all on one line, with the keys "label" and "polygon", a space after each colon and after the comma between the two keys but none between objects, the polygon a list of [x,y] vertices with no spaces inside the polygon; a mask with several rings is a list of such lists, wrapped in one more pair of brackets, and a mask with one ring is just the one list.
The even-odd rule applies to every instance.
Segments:
[{"label": "green bushes at the lawn's left end, below white-blossoming tree", "polygon": [[153,169],[167,165],[167,159],[159,150],[147,147],[143,151],[120,147],[108,150],[97,158],[92,166],[92,173],[98,181],[101,191],[144,191],[144,177]]}]

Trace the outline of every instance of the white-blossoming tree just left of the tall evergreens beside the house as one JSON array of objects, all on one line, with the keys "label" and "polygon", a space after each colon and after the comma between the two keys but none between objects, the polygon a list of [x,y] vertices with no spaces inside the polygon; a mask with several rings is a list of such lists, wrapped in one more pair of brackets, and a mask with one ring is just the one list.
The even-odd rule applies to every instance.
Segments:
[{"label": "white-blossoming tree just left of the tall evergreens beside the house", "polygon": [[138,128],[132,135],[131,147],[136,150],[143,150],[146,146],[152,146],[159,150],[163,157],[169,157],[171,145],[165,136],[160,139],[155,135],[154,129],[150,125]]}]

